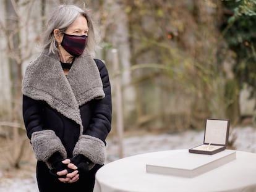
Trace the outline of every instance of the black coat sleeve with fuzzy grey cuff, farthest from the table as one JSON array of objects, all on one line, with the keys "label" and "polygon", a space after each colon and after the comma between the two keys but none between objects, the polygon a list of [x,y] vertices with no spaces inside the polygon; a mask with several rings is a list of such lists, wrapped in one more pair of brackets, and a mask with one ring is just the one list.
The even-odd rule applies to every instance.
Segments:
[{"label": "black coat sleeve with fuzzy grey cuff, farthest from the table", "polygon": [[62,157],[66,157],[66,149],[59,137],[43,125],[41,102],[23,95],[23,120],[36,159],[47,162],[56,151],[59,151]]}]

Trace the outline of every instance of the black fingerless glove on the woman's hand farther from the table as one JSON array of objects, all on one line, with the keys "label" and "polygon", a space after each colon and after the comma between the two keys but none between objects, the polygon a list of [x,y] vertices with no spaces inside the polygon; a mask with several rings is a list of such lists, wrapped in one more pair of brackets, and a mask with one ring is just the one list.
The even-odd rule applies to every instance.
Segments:
[{"label": "black fingerless glove on the woman's hand farther from the table", "polygon": [[54,177],[58,177],[58,178],[66,178],[66,175],[57,175],[57,172],[67,169],[67,172],[74,172],[73,169],[69,169],[67,167],[67,164],[63,164],[63,157],[61,156],[61,154],[59,154],[59,152],[54,152],[54,154],[49,157],[48,162],[51,164],[51,166],[53,167],[53,169],[49,170],[49,172],[51,173],[51,175],[53,175]]}]

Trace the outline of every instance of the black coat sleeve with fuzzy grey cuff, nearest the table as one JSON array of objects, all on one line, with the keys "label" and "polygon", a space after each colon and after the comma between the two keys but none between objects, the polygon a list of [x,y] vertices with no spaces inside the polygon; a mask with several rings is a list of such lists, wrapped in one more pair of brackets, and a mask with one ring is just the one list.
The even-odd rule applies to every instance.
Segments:
[{"label": "black coat sleeve with fuzzy grey cuff, nearest the table", "polygon": [[95,62],[100,71],[105,98],[93,101],[94,110],[90,125],[84,129],[83,135],[79,137],[73,155],[83,154],[94,164],[104,164],[106,157],[105,140],[111,130],[112,119],[111,85],[105,64],[98,59],[95,59]]}]

